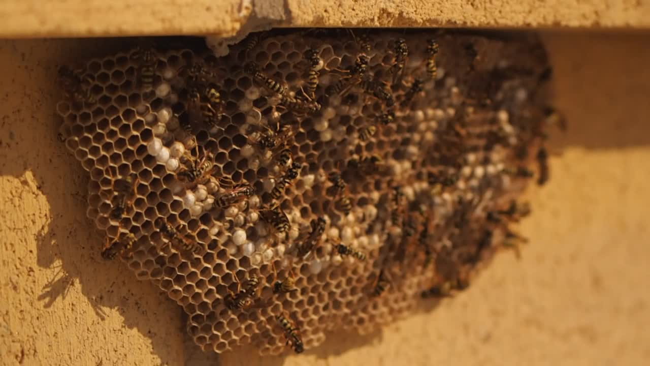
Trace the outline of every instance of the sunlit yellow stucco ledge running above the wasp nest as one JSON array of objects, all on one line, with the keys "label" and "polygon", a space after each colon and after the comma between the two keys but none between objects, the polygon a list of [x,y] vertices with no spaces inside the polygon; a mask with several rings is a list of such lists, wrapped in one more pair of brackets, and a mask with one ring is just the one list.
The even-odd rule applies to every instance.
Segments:
[{"label": "sunlit yellow stucco ledge running above the wasp nest", "polygon": [[[18,15],[20,14],[20,15]],[[5,0],[0,36],[205,35],[292,27],[650,27],[643,0]],[[191,20],[191,21],[188,21]]]}]

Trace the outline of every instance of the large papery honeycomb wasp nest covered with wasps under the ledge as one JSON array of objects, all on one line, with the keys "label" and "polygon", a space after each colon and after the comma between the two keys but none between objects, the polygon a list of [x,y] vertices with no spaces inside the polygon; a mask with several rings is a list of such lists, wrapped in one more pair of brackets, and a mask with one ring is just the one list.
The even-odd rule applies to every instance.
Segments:
[{"label": "large papery honeycomb wasp nest covered with wasps under the ledge", "polygon": [[138,47],[62,68],[88,218],[215,352],[319,345],[448,296],[548,176],[530,35],[272,31],[215,57]]}]

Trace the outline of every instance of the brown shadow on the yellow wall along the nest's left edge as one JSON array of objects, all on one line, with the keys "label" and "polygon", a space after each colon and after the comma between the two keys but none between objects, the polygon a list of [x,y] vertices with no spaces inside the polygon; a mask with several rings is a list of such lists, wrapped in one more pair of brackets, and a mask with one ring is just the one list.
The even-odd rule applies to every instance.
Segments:
[{"label": "brown shadow on the yellow wall along the nest's left edge", "polygon": [[[35,189],[49,204],[49,220],[36,238],[36,262],[41,268],[53,268],[55,274],[38,294],[35,305],[47,309],[65,300],[76,287],[92,304],[99,320],[105,319],[103,308],[119,309],[124,325],[151,339],[157,356],[171,364],[179,355],[171,354],[174,348],[156,334],[170,333],[170,324],[178,324],[177,331],[185,332],[184,324],[180,324],[181,309],[161,315],[171,321],[150,321],[160,309],[174,308],[159,305],[170,300],[157,294],[148,281],[136,281],[122,262],[101,259],[103,238],[86,218],[88,173],[57,139],[60,119],[55,106],[61,94],[55,79],[59,65],[73,63],[75,57],[102,55],[124,44],[123,40],[0,42],[0,64],[9,73],[3,89],[25,88],[0,96],[0,104],[6,109],[1,118],[0,175],[15,176],[28,184],[26,175],[32,174]],[[27,82],[14,83],[14,79]],[[29,89],[29,85],[39,87]],[[142,300],[145,295],[148,298]]]}]

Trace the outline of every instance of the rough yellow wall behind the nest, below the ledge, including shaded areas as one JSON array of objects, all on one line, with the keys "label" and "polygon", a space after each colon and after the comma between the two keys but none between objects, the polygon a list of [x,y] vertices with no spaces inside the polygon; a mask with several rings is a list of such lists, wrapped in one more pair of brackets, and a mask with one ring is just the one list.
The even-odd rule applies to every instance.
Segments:
[{"label": "rough yellow wall behind the nest, below the ledge, including shaded areas", "polygon": [[[551,183],[530,192],[522,260],[499,255],[466,292],[374,335],[328,337],[297,357],[226,354],[221,363],[644,364],[647,35],[545,40],[571,123],[552,136],[564,154],[551,159]],[[101,260],[101,238],[85,219],[87,180],[56,139],[57,64],[117,44],[0,42],[0,365],[214,364],[184,343],[175,305],[123,264]]]}]

